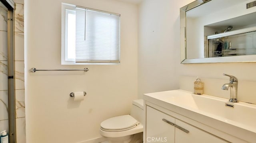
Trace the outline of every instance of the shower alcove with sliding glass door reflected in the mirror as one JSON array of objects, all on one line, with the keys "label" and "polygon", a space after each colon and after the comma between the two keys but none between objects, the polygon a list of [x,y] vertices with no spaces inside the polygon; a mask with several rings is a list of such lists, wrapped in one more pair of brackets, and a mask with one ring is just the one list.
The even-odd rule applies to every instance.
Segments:
[{"label": "shower alcove with sliding glass door reflected in the mirror", "polygon": [[204,25],[204,57],[256,55],[256,12]]}]

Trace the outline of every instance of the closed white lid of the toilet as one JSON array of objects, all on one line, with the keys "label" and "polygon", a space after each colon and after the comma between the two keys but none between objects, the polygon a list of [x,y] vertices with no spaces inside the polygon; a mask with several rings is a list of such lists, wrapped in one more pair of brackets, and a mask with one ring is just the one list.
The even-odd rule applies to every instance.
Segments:
[{"label": "closed white lid of the toilet", "polygon": [[138,125],[138,121],[130,115],[116,116],[102,121],[100,126],[105,131],[125,131]]}]

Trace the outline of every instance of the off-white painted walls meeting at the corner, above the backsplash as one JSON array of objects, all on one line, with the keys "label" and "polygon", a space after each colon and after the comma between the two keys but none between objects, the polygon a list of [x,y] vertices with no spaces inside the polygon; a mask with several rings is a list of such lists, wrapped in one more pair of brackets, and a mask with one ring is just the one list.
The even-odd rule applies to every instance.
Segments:
[{"label": "off-white painted walls meeting at the corner, above the backsplash", "polygon": [[[255,81],[256,63],[180,64],[179,9],[192,1],[144,0],[138,12],[136,6],[114,0],[25,0],[27,143],[76,143],[99,137],[102,120],[128,114],[137,94],[142,98],[143,93],[179,88],[181,75],[228,81],[222,76],[227,73]],[[61,2],[121,14],[121,65],[60,65]],[[90,71],[30,73],[31,67]],[[84,101],[69,97],[83,90]]]}]

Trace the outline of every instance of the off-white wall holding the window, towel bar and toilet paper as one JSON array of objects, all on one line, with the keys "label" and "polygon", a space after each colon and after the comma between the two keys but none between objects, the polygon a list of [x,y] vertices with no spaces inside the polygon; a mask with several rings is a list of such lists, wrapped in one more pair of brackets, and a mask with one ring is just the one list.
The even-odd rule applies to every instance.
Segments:
[{"label": "off-white wall holding the window, towel bar and toilet paper", "polygon": [[[120,65],[61,65],[61,2],[121,14]],[[25,0],[27,143],[76,143],[100,137],[104,119],[130,113],[138,94],[138,7],[115,0]],[[88,72],[36,72],[84,69]],[[84,101],[69,94],[86,91]]]}]

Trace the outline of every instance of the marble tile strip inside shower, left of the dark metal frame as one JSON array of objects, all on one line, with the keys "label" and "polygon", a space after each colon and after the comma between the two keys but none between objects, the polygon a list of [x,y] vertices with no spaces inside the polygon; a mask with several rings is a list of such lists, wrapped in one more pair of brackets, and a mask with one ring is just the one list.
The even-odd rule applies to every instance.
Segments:
[{"label": "marble tile strip inside shower, left of the dark metal frame", "polygon": [[9,131],[7,12],[8,9],[0,2],[0,131]]}]

